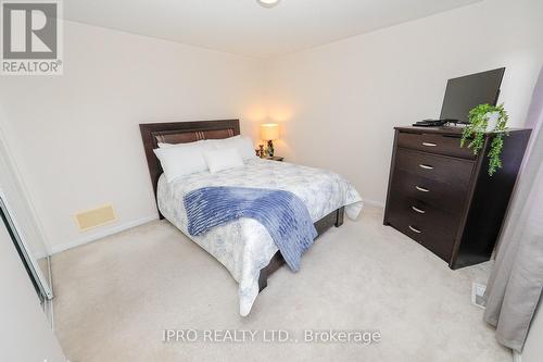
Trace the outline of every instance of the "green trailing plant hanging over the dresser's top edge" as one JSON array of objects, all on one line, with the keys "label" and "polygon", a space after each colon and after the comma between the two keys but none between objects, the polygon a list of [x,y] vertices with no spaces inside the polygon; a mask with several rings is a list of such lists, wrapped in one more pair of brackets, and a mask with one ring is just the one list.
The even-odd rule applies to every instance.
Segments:
[{"label": "green trailing plant hanging over the dresser's top edge", "polygon": [[484,133],[489,124],[489,117],[492,113],[497,113],[497,124],[492,132],[495,133],[492,138],[489,151],[489,175],[492,176],[498,168],[502,168],[502,149],[504,147],[504,137],[507,134],[507,121],[509,116],[504,109],[504,104],[491,105],[479,104],[469,111],[469,124],[464,128],[460,139],[460,147],[467,142],[468,148],[473,150],[473,154],[478,154],[484,147]]}]

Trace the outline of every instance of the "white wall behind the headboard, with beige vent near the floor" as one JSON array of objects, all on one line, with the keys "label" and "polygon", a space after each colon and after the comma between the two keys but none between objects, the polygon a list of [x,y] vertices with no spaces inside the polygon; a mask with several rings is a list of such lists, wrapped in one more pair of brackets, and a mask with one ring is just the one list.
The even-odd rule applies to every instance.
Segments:
[{"label": "white wall behind the headboard, with beige vent near the floor", "polygon": [[[254,59],[72,22],[64,37],[64,75],[0,79],[0,127],[53,251],[156,216],[139,123],[240,117],[250,134],[265,114]],[[118,221],[80,233],[74,213],[105,203]]]}]

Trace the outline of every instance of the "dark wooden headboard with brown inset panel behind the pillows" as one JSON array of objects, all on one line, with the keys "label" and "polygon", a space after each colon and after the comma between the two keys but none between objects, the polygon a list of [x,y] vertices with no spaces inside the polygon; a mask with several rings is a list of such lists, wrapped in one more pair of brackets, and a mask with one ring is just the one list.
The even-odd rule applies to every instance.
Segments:
[{"label": "dark wooden headboard with brown inset panel behind the pillows", "polygon": [[139,129],[155,199],[159,177],[163,173],[161,162],[153,152],[159,147],[159,142],[188,143],[202,139],[228,138],[240,134],[239,120],[144,123],[139,125]]}]

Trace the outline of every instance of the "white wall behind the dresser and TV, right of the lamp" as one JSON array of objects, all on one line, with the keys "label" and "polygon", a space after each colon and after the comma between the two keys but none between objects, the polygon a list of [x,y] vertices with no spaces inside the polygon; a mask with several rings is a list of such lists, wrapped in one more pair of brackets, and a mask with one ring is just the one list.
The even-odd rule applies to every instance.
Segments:
[{"label": "white wall behind the dresser and TV, right of the lamp", "polygon": [[506,66],[502,98],[525,122],[543,61],[543,1],[487,0],[268,62],[278,153],[386,198],[393,126],[438,117],[446,79]]}]

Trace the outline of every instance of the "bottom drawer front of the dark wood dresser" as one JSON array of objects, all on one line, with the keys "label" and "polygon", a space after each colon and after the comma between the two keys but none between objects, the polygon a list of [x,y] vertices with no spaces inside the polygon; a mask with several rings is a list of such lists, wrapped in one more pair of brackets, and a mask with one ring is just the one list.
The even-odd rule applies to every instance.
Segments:
[{"label": "bottom drawer front of the dark wood dresser", "polygon": [[420,200],[395,196],[389,203],[388,222],[441,259],[451,259],[459,215]]}]

